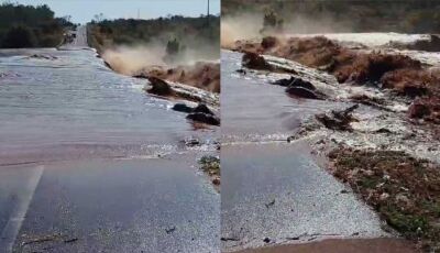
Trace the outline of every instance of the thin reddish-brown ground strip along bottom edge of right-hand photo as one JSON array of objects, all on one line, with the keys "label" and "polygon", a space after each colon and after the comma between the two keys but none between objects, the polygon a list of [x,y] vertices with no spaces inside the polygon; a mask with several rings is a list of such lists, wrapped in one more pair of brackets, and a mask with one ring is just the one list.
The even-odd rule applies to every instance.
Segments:
[{"label": "thin reddish-brown ground strip along bottom edge of right-hand photo", "polygon": [[378,239],[328,239],[305,244],[287,244],[249,249],[237,253],[416,253],[415,246],[404,240]]}]

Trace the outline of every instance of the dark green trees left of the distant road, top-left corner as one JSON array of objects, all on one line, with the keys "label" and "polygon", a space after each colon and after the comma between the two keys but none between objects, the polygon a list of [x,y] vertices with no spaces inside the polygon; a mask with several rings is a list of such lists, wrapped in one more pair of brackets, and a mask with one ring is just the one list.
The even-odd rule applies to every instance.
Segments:
[{"label": "dark green trees left of the distant road, top-left corner", "polygon": [[0,47],[54,47],[63,42],[68,18],[55,18],[47,6],[0,6]]}]

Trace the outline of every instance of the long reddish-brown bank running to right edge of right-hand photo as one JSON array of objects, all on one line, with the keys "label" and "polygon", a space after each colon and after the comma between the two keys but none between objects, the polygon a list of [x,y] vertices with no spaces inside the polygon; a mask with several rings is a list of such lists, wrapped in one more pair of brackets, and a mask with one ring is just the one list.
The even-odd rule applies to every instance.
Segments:
[{"label": "long reddish-brown bank running to right edge of right-hand photo", "polygon": [[[237,41],[229,50],[250,55],[248,67],[273,72],[258,55],[273,55],[332,74],[339,82],[370,85],[416,99],[409,117],[439,123],[440,74],[406,55],[346,48],[323,36]],[[243,57],[245,58],[245,57]],[[421,110],[421,111],[419,111]]]}]

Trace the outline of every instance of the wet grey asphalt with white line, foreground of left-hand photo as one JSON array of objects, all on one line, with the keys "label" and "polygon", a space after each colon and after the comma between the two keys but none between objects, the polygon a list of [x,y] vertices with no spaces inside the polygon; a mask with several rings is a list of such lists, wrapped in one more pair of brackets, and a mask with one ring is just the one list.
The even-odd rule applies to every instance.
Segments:
[{"label": "wet grey asphalt with white line, foreground of left-hand photo", "polygon": [[0,252],[220,252],[220,196],[194,161],[2,167]]}]

